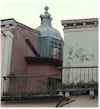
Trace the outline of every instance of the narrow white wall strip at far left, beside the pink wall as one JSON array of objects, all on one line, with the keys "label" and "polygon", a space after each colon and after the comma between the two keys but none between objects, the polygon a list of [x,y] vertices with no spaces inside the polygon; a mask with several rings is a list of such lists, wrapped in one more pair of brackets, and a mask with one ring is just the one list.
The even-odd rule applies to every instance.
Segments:
[{"label": "narrow white wall strip at far left, beside the pink wall", "polygon": [[1,48],[2,48],[1,93],[6,93],[8,91],[9,79],[6,78],[4,80],[3,77],[7,77],[10,72],[12,42],[13,42],[13,34],[10,31],[4,31],[1,36]]}]

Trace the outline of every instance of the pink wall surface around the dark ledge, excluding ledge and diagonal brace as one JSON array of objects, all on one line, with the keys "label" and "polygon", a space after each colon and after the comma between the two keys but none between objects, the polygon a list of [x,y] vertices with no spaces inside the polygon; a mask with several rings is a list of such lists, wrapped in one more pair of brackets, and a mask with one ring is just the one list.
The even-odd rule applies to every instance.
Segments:
[{"label": "pink wall surface around the dark ledge, excluding ledge and diagonal brace", "polygon": [[[10,23],[7,21],[9,28],[11,25],[13,26],[13,23]],[[6,28],[8,29],[8,27]],[[38,52],[38,32],[36,30],[16,22],[16,26],[13,26],[9,31],[13,34],[13,40],[12,52],[9,55],[11,56],[10,74],[7,75],[7,80],[10,80],[8,93],[14,95],[22,92],[38,93],[47,86],[49,76],[61,77],[61,72],[55,65],[52,65],[53,63],[50,65],[49,61],[45,64],[39,63],[39,61],[37,61],[38,64],[27,64],[25,57],[37,57],[36,53],[32,52],[26,43],[26,39],[30,40],[33,48]],[[10,44],[8,45],[10,46]]]}]

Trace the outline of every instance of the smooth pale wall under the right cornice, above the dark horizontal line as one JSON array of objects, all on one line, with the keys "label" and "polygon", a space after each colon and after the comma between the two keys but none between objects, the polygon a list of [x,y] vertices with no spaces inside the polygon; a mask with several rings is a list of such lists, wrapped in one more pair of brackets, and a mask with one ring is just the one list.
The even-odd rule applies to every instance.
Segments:
[{"label": "smooth pale wall under the right cornice, above the dark horizontal line", "polygon": [[[64,30],[64,60],[68,57],[68,50],[73,48],[74,51],[83,48],[87,55],[93,55],[91,61],[85,63],[79,62],[74,59],[70,62],[71,66],[93,66],[98,64],[98,31],[97,28],[87,29],[72,29]],[[64,61],[63,65],[66,66],[68,61]]]}]

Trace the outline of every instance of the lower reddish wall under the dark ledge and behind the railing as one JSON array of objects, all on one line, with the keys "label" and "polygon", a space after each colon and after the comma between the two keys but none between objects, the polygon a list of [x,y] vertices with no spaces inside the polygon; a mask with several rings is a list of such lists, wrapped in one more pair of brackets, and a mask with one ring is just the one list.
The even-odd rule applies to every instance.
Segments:
[{"label": "lower reddish wall under the dark ledge and behind the railing", "polygon": [[37,94],[46,91],[48,77],[60,77],[61,72],[52,65],[35,64],[27,65],[25,74],[16,74],[16,76],[16,78],[11,79],[10,92],[12,94],[22,92]]}]

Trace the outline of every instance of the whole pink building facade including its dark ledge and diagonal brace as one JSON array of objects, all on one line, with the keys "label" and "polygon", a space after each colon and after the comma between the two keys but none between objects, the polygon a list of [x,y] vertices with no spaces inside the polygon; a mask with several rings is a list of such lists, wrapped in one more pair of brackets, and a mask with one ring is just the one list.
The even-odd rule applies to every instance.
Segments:
[{"label": "whole pink building facade including its dark ledge and diagonal brace", "polygon": [[[12,21],[14,23],[11,23]],[[50,87],[54,87],[54,89],[59,87],[59,85],[53,86],[55,82],[50,83],[49,79],[61,80],[61,70],[58,69],[58,66],[61,66],[62,61],[40,56],[38,53],[39,32],[14,19],[2,20],[1,24],[2,37],[4,37],[3,33],[6,28],[13,34],[10,71],[8,75],[2,76],[3,83],[9,80],[8,90],[4,93],[10,95],[39,94]]]}]

